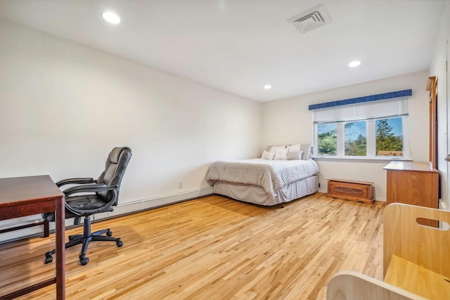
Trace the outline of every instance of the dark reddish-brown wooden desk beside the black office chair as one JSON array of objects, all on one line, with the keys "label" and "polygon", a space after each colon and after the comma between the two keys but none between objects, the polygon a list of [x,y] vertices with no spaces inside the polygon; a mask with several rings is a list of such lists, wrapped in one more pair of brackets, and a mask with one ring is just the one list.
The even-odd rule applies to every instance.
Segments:
[{"label": "dark reddish-brown wooden desk beside the black office chair", "polygon": [[[51,211],[56,211],[56,278],[0,296],[0,299],[13,299],[53,283],[56,283],[57,299],[65,299],[65,208],[63,192],[48,175],[0,178],[0,220]],[[44,256],[44,254],[42,255]]]}]

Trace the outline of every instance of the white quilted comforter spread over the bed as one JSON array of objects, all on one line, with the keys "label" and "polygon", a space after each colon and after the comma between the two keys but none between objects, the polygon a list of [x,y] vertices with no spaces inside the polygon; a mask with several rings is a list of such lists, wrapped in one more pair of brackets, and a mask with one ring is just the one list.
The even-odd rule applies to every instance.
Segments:
[{"label": "white quilted comforter spread over the bed", "polygon": [[215,181],[258,185],[274,196],[283,186],[317,173],[319,167],[313,159],[239,159],[214,162],[207,181],[211,185]]}]

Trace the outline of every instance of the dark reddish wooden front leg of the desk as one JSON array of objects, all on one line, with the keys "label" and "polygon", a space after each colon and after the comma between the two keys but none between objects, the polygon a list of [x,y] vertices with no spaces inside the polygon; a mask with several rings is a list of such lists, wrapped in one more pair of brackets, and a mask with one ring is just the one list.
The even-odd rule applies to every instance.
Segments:
[{"label": "dark reddish wooden front leg of the desk", "polygon": [[65,299],[65,208],[64,197],[56,200],[56,299]]}]

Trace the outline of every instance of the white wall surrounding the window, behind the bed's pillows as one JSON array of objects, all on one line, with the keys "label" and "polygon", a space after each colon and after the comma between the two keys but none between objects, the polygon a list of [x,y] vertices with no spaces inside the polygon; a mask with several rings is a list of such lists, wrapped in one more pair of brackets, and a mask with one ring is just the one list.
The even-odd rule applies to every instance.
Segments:
[{"label": "white wall surrounding the window, behind the bed's pillows", "polygon": [[[266,145],[312,143],[312,113],[308,105],[334,100],[369,96],[390,91],[412,89],[409,99],[409,145],[414,161],[428,161],[428,92],[425,86],[428,70],[370,81],[304,96],[276,100],[262,105],[262,148]],[[386,200],[384,162],[349,162],[316,159],[321,174],[320,190],[326,192],[327,178],[372,181],[377,200]]]}]

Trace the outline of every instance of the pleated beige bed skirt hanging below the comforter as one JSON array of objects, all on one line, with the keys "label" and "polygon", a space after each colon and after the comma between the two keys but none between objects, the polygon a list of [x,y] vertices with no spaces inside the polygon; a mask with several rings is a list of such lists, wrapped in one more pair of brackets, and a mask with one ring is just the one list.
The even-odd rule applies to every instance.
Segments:
[{"label": "pleated beige bed skirt hanging below the comforter", "polygon": [[284,186],[276,193],[275,197],[257,185],[243,185],[226,181],[214,182],[213,191],[215,194],[225,195],[236,200],[272,206],[314,194],[317,192],[318,186],[319,178],[314,175]]}]

